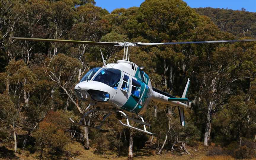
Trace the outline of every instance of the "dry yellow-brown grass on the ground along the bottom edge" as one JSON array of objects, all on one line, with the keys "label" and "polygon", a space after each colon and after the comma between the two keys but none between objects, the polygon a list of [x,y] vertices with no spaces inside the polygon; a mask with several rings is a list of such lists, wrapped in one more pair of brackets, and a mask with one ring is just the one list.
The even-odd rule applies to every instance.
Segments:
[{"label": "dry yellow-brown grass on the ground along the bottom edge", "polygon": [[[39,152],[35,152],[34,154],[30,154],[28,151],[20,151],[20,154],[17,156],[12,156],[13,150],[9,147],[1,147],[0,144],[0,160],[6,159],[17,159],[17,160],[37,160],[39,159]],[[3,151],[3,148],[5,149]],[[206,156],[207,151],[210,149],[205,148],[203,146],[198,146],[192,148],[188,147],[188,151],[191,155],[188,154],[181,154],[180,151],[171,153],[171,152],[164,152],[161,155],[153,154],[152,150],[148,150],[147,148],[143,148],[140,151],[136,151],[134,153],[134,160],[143,160],[143,159],[150,159],[150,160],[234,160],[232,156]],[[71,142],[66,146],[65,152],[60,155],[48,155],[44,152],[44,159],[65,159],[65,160],[73,160],[72,157],[80,160],[106,160],[106,159],[114,159],[114,160],[126,160],[127,156],[120,156],[117,157],[116,153],[107,152],[105,155],[98,155],[94,153],[95,148],[91,148],[90,150],[84,150],[81,143],[78,142]],[[4,156],[5,153],[9,153],[9,156]]]}]

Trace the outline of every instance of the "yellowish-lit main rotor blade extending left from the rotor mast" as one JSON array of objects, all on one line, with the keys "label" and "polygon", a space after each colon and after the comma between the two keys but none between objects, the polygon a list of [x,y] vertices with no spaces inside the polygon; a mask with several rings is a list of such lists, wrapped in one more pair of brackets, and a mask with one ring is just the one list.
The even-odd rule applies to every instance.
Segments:
[{"label": "yellowish-lit main rotor blade extending left from the rotor mast", "polygon": [[58,43],[74,43],[74,44],[88,44],[88,45],[119,45],[119,42],[90,42],[90,41],[78,41],[78,40],[55,40],[55,39],[42,39],[42,38],[24,38],[24,37],[11,37],[16,40],[30,40],[41,42],[58,42]]}]

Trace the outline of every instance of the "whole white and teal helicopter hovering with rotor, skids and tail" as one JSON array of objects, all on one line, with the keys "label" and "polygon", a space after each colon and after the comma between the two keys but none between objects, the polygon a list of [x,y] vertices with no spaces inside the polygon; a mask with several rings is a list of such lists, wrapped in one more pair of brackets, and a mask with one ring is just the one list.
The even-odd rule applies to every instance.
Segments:
[{"label": "whole white and teal helicopter hovering with rotor, skids and tail", "polygon": [[[187,92],[190,84],[190,79],[187,80],[182,96],[175,97],[165,93],[159,89],[153,88],[149,76],[143,71],[142,67],[129,61],[130,54],[128,54],[129,47],[140,47],[146,45],[174,45],[174,44],[192,44],[192,43],[231,43],[231,42],[252,42],[256,39],[247,40],[217,40],[217,41],[198,41],[198,42],[171,42],[171,43],[130,43],[130,42],[90,42],[90,41],[76,41],[76,40],[57,40],[57,39],[41,39],[41,38],[24,38],[12,37],[17,40],[30,40],[42,42],[57,42],[57,43],[74,43],[74,44],[89,44],[89,45],[108,45],[124,47],[124,56],[122,60],[117,63],[108,63],[103,57],[100,50],[103,67],[92,68],[88,71],[78,84],[74,87],[74,92],[80,101],[88,102],[86,108],[88,110],[91,106],[95,109],[86,112],[79,122],[75,122],[71,118],[69,120],[75,124],[83,127],[95,129],[99,132],[108,132],[103,130],[105,120],[111,115],[117,115],[119,123],[125,127],[129,127],[140,132],[155,135],[146,129],[146,126],[151,126],[146,123],[142,117],[147,110],[151,100],[168,105],[177,106],[180,116],[180,125],[185,125],[184,109],[191,107],[195,101],[190,101],[187,98]],[[102,120],[95,119],[89,115],[92,112],[106,112]],[[132,115],[129,117],[127,115]],[[138,116],[140,120],[134,117]],[[100,125],[93,127],[83,124],[85,119],[99,122]],[[126,123],[121,120],[126,119]],[[129,123],[134,121],[143,125],[143,129],[136,128]]]}]

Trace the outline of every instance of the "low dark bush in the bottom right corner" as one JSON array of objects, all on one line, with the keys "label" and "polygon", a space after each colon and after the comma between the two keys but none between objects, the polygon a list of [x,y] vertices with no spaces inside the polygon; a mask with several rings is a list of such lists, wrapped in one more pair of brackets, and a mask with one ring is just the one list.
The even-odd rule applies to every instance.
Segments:
[{"label": "low dark bush in the bottom right corner", "polygon": [[253,148],[248,148],[247,146],[239,147],[234,151],[234,157],[236,159],[251,159],[255,154]]}]

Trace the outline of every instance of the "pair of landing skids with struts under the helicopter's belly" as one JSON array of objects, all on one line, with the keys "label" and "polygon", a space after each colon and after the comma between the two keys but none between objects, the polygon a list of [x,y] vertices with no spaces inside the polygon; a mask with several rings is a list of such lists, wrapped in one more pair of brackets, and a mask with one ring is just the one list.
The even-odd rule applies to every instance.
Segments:
[{"label": "pair of landing skids with struts under the helicopter's belly", "polygon": [[[91,112],[95,112],[95,111],[98,111],[98,112],[109,112],[109,113],[104,116],[103,120],[98,120],[98,119],[95,119],[95,118],[92,118],[92,117],[87,116],[87,115],[89,115]],[[127,124],[124,124],[121,120],[119,120],[119,123],[120,123],[121,125],[123,125],[123,126],[125,126],[125,127],[129,127],[129,128],[135,129],[135,130],[140,131],[140,132],[143,132],[143,133],[145,133],[145,134],[156,135],[156,134],[154,134],[154,133],[151,133],[151,132],[148,132],[148,131],[147,131],[145,125],[150,126],[150,124],[149,124],[149,123],[145,123],[144,120],[143,120],[143,117],[141,117],[140,115],[138,115],[138,116],[140,117],[140,119],[141,119],[141,121],[140,121],[140,120],[137,120],[137,119],[135,119],[135,118],[128,117],[124,112],[122,112],[122,111],[120,111],[120,110],[114,111],[114,110],[105,110],[105,109],[104,109],[104,110],[93,109],[93,110],[90,110],[90,111],[86,112],[86,113],[84,114],[84,116],[81,118],[81,120],[80,120],[79,123],[73,121],[71,118],[68,118],[68,119],[69,119],[73,124],[75,124],[75,125],[80,125],[80,126],[83,126],[83,127],[87,127],[87,128],[90,128],[90,129],[97,130],[98,132],[105,133],[105,132],[109,132],[109,130],[102,130],[102,129],[100,129],[100,128],[102,127],[103,123],[105,123],[105,120],[108,118],[108,116],[110,116],[112,113],[114,113],[114,114],[120,114],[120,113],[121,113],[121,116],[126,119]],[[88,119],[88,120],[93,120],[93,121],[99,122],[100,125],[97,126],[97,127],[92,127],[92,126],[89,126],[89,125],[85,125],[85,124],[83,124],[84,119]],[[129,120],[132,120],[132,121],[134,121],[134,122],[137,122],[137,123],[142,124],[143,127],[144,127],[144,130],[131,126],[131,125],[129,124]]]}]

